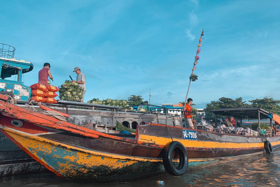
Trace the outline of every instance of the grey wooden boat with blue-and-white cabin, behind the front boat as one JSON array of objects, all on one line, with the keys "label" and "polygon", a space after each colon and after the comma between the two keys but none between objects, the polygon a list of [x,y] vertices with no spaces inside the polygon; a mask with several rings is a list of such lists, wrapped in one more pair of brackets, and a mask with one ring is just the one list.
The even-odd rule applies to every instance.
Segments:
[{"label": "grey wooden boat with blue-and-white cabin, behind the front boat", "polygon": [[[1,46],[6,45],[1,44]],[[10,46],[7,47],[7,49],[10,49]],[[14,48],[13,51],[10,52],[14,54]],[[23,84],[22,75],[32,71],[34,67],[33,64],[24,60],[16,60],[13,58],[13,55],[0,54],[0,65],[0,91],[2,94],[9,93],[17,102],[18,106],[26,107],[24,104],[30,101],[31,89],[29,86]],[[11,76],[13,76],[12,79],[10,78]],[[116,113],[114,110],[120,107],[63,100],[58,100],[57,104],[49,104],[48,106],[52,106],[52,108],[58,111],[68,113],[70,115],[68,117],[68,122],[78,126],[84,126],[101,132],[116,133]],[[75,107],[83,109],[75,109]],[[37,110],[39,111],[40,108],[37,108]],[[136,131],[136,127],[139,123],[139,115],[142,113],[138,111],[121,111],[118,114],[119,122],[124,123],[126,127]],[[142,121],[145,122],[163,123],[166,121],[166,116],[162,114],[148,114],[143,118]],[[170,118],[167,123],[173,125],[174,120]],[[40,172],[42,170],[44,170],[44,167],[0,132],[0,175]]]}]

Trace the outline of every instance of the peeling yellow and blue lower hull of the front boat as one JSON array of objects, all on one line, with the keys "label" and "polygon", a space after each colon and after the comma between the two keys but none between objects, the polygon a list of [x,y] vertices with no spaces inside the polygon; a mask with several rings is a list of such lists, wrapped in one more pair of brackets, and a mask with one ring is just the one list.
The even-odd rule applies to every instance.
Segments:
[{"label": "peeling yellow and blue lower hull of the front boat", "polygon": [[[41,164],[75,182],[123,182],[165,172],[161,159],[114,155],[61,144],[35,135],[3,130]],[[224,158],[230,161],[232,158]],[[190,159],[189,170],[219,163],[218,158]]]}]

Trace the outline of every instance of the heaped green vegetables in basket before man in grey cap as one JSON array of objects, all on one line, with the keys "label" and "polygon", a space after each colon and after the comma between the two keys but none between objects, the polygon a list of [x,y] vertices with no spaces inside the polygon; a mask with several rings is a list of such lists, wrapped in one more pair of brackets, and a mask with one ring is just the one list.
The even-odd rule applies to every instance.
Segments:
[{"label": "heaped green vegetables in basket before man in grey cap", "polygon": [[78,83],[66,80],[59,88],[59,98],[66,101],[81,101],[84,89]]}]

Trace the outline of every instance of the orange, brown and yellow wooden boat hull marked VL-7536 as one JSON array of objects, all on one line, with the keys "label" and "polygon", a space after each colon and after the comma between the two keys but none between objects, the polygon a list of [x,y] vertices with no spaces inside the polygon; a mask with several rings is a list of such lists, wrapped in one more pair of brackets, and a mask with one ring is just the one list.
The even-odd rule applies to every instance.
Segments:
[{"label": "orange, brown and yellow wooden boat hull marked VL-7536", "polygon": [[[47,169],[76,182],[124,182],[161,175],[170,142],[185,147],[188,169],[261,154],[265,141],[272,148],[280,144],[278,136],[249,137],[156,123],[138,125],[136,135],[125,138],[16,106],[3,95],[0,98],[1,132]],[[176,169],[181,158],[174,157]]]}]

